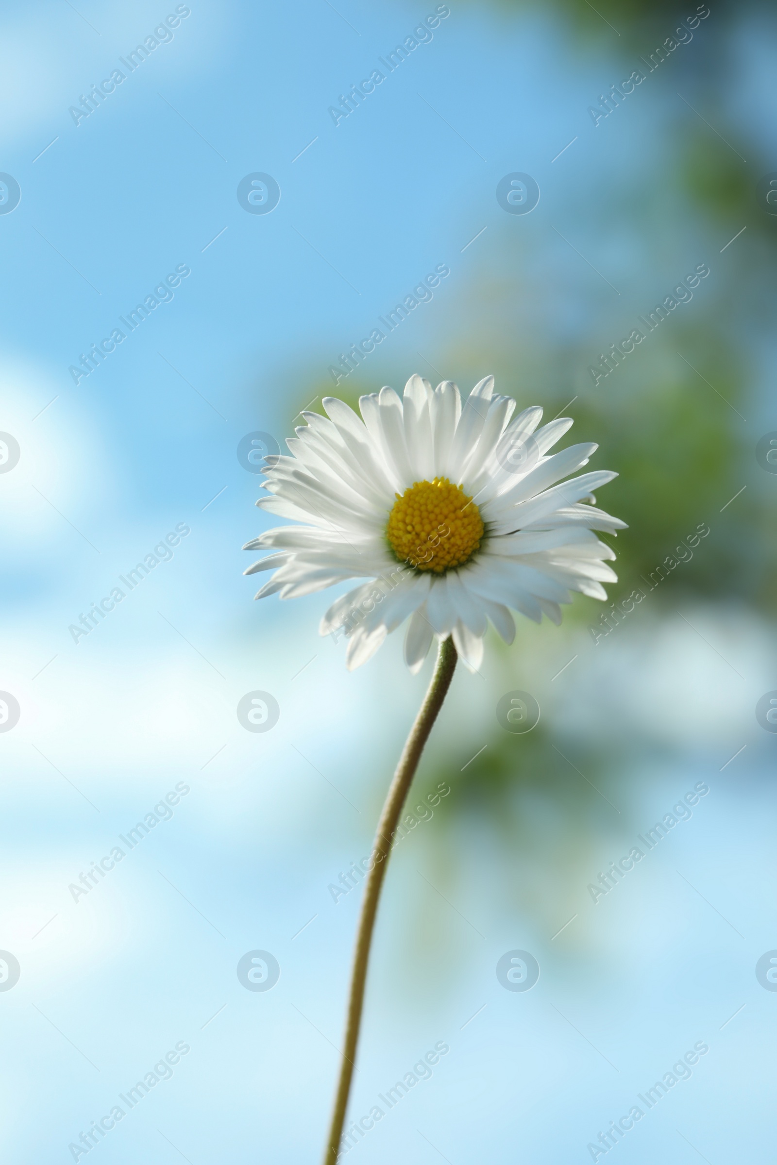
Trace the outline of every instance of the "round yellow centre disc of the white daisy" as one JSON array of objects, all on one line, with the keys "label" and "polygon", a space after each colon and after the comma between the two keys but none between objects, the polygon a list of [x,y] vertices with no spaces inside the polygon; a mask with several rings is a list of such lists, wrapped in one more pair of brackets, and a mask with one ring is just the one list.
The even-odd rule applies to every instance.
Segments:
[{"label": "round yellow centre disc of the white daisy", "polygon": [[480,546],[480,510],[447,478],[416,481],[395,496],[386,534],[400,562],[442,574],[461,566]]}]

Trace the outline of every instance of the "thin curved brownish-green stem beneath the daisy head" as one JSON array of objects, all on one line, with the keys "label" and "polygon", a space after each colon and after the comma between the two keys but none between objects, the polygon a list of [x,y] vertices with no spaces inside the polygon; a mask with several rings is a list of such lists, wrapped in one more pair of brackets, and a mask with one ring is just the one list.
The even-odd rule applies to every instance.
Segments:
[{"label": "thin curved brownish-green stem beneath the daisy head", "polygon": [[351,1078],[353,1076],[353,1061],[356,1054],[356,1043],[359,1040],[359,1026],[361,1024],[361,1010],[365,1001],[365,983],[367,980],[367,963],[369,961],[369,947],[373,940],[375,926],[375,915],[377,913],[377,902],[380,899],[386,867],[391,852],[391,834],[396,829],[396,824],[402,812],[405,797],[410,791],[412,778],[418,768],[421,754],[424,744],[429,740],[437,713],[443,706],[443,700],[451,686],[453,670],[457,664],[457,651],[453,640],[443,640],[439,645],[435,675],[432,676],[429,690],[424,697],[424,702],[416,716],[416,721],[410,729],[410,735],[405,741],[400,763],[397,764],[394,781],[388,791],[383,812],[375,834],[375,845],[372,854],[372,867],[367,874],[365,885],[365,898],[361,904],[359,918],[359,930],[356,932],[356,949],[353,956],[353,970],[351,973],[351,994],[348,997],[348,1018],[345,1030],[345,1047],[342,1048],[342,1064],[340,1066],[340,1079],[338,1081],[337,1096],[334,1099],[334,1111],[332,1113],[332,1124],[326,1143],[324,1165],[334,1165],[338,1158],[342,1125],[345,1123],[346,1108],[348,1107],[348,1093],[351,1092]]}]

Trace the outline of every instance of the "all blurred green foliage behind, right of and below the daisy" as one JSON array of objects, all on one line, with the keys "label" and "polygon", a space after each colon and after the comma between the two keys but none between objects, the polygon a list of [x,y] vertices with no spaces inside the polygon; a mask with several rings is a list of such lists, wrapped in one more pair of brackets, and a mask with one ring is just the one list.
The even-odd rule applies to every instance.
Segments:
[{"label": "all blurred green foliage behind, right of and below the daisy", "polygon": [[[495,0],[492,10],[496,19],[514,23],[538,7],[534,0]],[[543,2],[542,12],[558,21],[581,52],[587,43],[600,49],[606,44],[616,69],[635,54],[663,43],[674,22],[691,15],[694,7],[688,5],[686,10],[669,0],[640,0],[624,7],[615,0],[599,0],[594,9],[587,0],[557,0]],[[777,531],[770,488],[777,476],[767,481],[769,475],[756,465],[754,449],[761,433],[748,428],[746,419],[760,390],[751,359],[753,327],[757,323],[763,329],[774,308],[774,292],[764,294],[764,288],[772,284],[777,241],[777,218],[758,210],[755,183],[777,169],[777,163],[760,158],[753,142],[742,141],[734,111],[726,107],[732,87],[720,84],[727,58],[732,68],[736,26],[754,14],[767,22],[774,19],[774,12],[769,15],[761,5],[716,5],[697,41],[695,58],[690,54],[673,57],[672,89],[701,108],[704,118],[678,105],[678,116],[662,142],[665,181],[647,192],[629,191],[623,178],[628,197],[617,206],[648,254],[651,247],[671,249],[691,234],[720,238],[708,252],[718,271],[723,268],[715,252],[740,225],[746,226],[744,245],[726,257],[727,289],[709,280],[714,290],[706,294],[705,289],[692,312],[678,312],[664,322],[645,337],[638,355],[598,386],[589,377],[584,383],[581,369],[594,359],[595,336],[605,346],[606,338],[609,343],[617,333],[612,302],[594,305],[593,339],[588,334],[559,345],[542,319],[535,325],[537,310],[550,310],[553,303],[552,269],[537,264],[528,282],[529,245],[506,231],[499,252],[492,252],[493,266],[471,281],[447,319],[444,356],[435,356],[444,363],[443,374],[457,379],[465,393],[493,372],[497,390],[515,395],[518,408],[542,404],[546,421],[559,412],[572,416],[574,429],[560,447],[582,440],[599,443],[591,467],[616,469],[620,476],[600,493],[598,504],[629,524],[613,543],[619,582],[608,587],[612,599],[624,598],[642,585],[641,579],[700,523],[709,527],[693,559],[656,591],[654,617],[662,612],[673,614],[678,601],[687,598],[744,602],[764,615],[777,610]],[[511,33],[517,35],[515,29]],[[599,220],[595,231],[600,231]],[[681,274],[678,270],[677,277]],[[736,287],[735,296],[732,287]],[[650,306],[644,303],[637,310]],[[387,352],[384,362],[374,360],[361,380],[356,369],[337,388],[320,374],[305,376],[301,369],[294,407],[302,408],[318,394],[315,408],[319,410],[325,395],[340,396],[356,408],[362,393],[375,390],[375,375],[397,390],[412,372],[435,383],[442,379],[415,358],[416,367],[400,367],[396,360]],[[324,362],[317,355],[318,369]],[[555,634],[570,634],[575,626],[598,620],[601,609],[600,603],[575,595],[565,608],[563,628]],[[494,641],[492,649],[499,650]],[[523,650],[521,635],[510,650]],[[454,881],[450,859],[443,856],[453,848],[451,831],[472,831],[482,822],[499,842],[508,871],[495,892],[507,909],[542,916],[550,924],[561,911],[558,878],[570,881],[574,871],[579,889],[584,871],[594,863],[592,848],[602,829],[628,826],[626,805],[619,817],[609,803],[619,799],[619,791],[628,797],[624,774],[645,760],[650,746],[644,740],[608,740],[596,747],[578,741],[572,756],[558,727],[543,722],[529,735],[511,736],[493,719],[479,726],[478,739],[486,740],[487,748],[462,772],[455,771],[444,743],[433,739],[419,788],[450,781],[452,795],[437,824],[418,831],[423,845],[437,853],[440,868]],[[431,891],[424,892],[421,916],[429,916],[432,898]]]}]

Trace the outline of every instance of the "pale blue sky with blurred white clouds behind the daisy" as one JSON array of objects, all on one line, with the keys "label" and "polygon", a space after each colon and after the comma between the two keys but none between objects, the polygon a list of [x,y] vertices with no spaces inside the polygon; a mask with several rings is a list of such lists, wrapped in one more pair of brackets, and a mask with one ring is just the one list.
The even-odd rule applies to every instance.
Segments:
[{"label": "pale blue sky with blurred white clouds behind the daisy", "polygon": [[[80,96],[182,8],[172,40],[76,125]],[[607,121],[587,113],[635,68],[603,24],[575,37],[552,12],[451,5],[431,41],[334,123],[330,106],[436,8],[84,0],[0,17],[0,170],[21,188],[0,216],[0,430],[21,447],[0,475],[0,689],[22,709],[0,735],[0,947],[22,968],[0,995],[9,1163],[72,1160],[69,1144],[178,1042],[191,1051],[172,1078],[92,1150],[105,1163],[302,1163],[320,1151],[356,910],[355,894],[335,905],[326,888],[369,846],[426,673],[408,677],[397,636],[346,673],[342,645],[317,635],[320,595],[253,603],[240,548],[270,523],[253,507],[240,439],[281,442],[330,365],[438,264],[450,275],[433,298],[365,361],[370,390],[415,370],[468,389],[492,370],[492,330],[507,329],[534,354],[501,387],[552,416],[592,388],[585,360],[568,383],[544,382],[537,351],[581,344],[594,359],[705,261],[697,306],[722,298],[736,315],[757,243],[746,234],[721,253],[742,224],[711,225],[683,205],[672,167],[692,115],[674,59]],[[697,62],[691,75],[704,36],[701,24],[677,50]],[[765,155],[774,126],[753,108],[769,50],[746,27],[732,61],[748,101],[728,114],[750,119]],[[513,171],[539,184],[530,214],[496,200]],[[238,202],[253,172],[280,185],[271,213]],[[80,353],[182,267],[174,297],[76,384]],[[754,365],[767,352],[756,337]],[[665,360],[647,355],[645,379]],[[754,430],[770,419],[757,389],[754,374]],[[190,532],[172,557],[73,642],[69,627],[176,527]],[[693,1160],[683,1137],[722,1159],[742,1124],[765,1149],[774,1000],[753,967],[777,946],[763,878],[774,798],[750,704],[777,686],[774,630],[740,608],[697,614],[723,636],[747,698],[704,643],[649,613],[607,654],[593,655],[580,624],[564,637],[530,628],[520,655],[493,654],[487,690],[457,677],[437,754],[451,770],[479,747],[492,692],[507,684],[535,685],[570,747],[640,741],[640,764],[607,786],[628,825],[602,816],[580,842],[594,864],[695,781],[712,792],[641,882],[595,908],[582,861],[555,873],[508,860],[486,820],[453,838],[422,826],[429,840],[419,829],[391,869],[354,1111],[436,1042],[451,1052],[354,1162],[588,1160],[588,1139],[698,1040],[708,1055],[629,1134],[629,1160]],[[577,650],[586,672],[551,686]],[[281,705],[267,735],[235,716],[254,690]],[[742,743],[741,769],[721,774]],[[172,818],[73,901],[69,885],[179,782],[191,791]],[[542,806],[531,812],[545,828]],[[542,925],[510,898],[514,861]],[[733,866],[747,871],[736,887]],[[440,912],[419,868],[437,885],[452,880],[480,938]],[[709,913],[676,869],[712,885]],[[567,905],[585,925],[553,941]],[[747,938],[720,917],[742,913]],[[494,975],[511,948],[536,949],[543,967],[525,997]],[[281,963],[267,994],[238,982],[250,949]]]}]

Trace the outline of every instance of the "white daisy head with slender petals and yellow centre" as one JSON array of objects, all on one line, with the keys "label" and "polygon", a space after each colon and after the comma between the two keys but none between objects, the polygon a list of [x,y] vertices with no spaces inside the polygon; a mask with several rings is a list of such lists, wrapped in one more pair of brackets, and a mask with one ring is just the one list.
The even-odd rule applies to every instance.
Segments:
[{"label": "white daisy head with slender petals and yellow centre", "polygon": [[306,524],[246,544],[277,550],[245,572],[275,571],[256,598],[368,579],[332,603],[320,634],[345,634],[353,669],[409,617],[411,671],[435,636],[448,635],[467,666],[479,668],[487,620],[507,643],[515,637],[508,608],[560,623],[570,591],[606,599],[601,584],[616,576],[605,559],[615,555],[593,531],[615,535],[626,523],[589,503],[617,474],[563,481],[596,445],[548,456],[572,421],[537,429],[537,407],[510,419],[515,401],[493,387],[486,376],[462,405],[452,381],[432,389],[416,375],[404,400],[391,388],[362,396],[361,418],[334,397],[323,402],[329,419],[302,414],[306,425],[287,442],[291,456],[267,458],[270,496],[256,504]]}]

